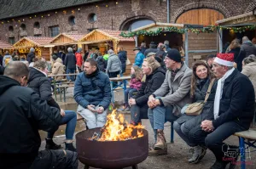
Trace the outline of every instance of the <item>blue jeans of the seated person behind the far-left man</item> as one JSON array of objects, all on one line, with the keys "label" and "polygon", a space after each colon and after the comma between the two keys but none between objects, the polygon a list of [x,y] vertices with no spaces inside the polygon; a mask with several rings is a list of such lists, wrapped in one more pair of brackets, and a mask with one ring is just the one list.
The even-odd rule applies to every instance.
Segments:
[{"label": "blue jeans of the seated person behind the far-left man", "polygon": [[[65,115],[61,119],[61,125],[67,124],[66,127],[66,139],[73,139],[73,133],[77,125],[77,114],[73,110],[65,110]],[[48,132],[47,138],[53,138],[55,132]]]}]

